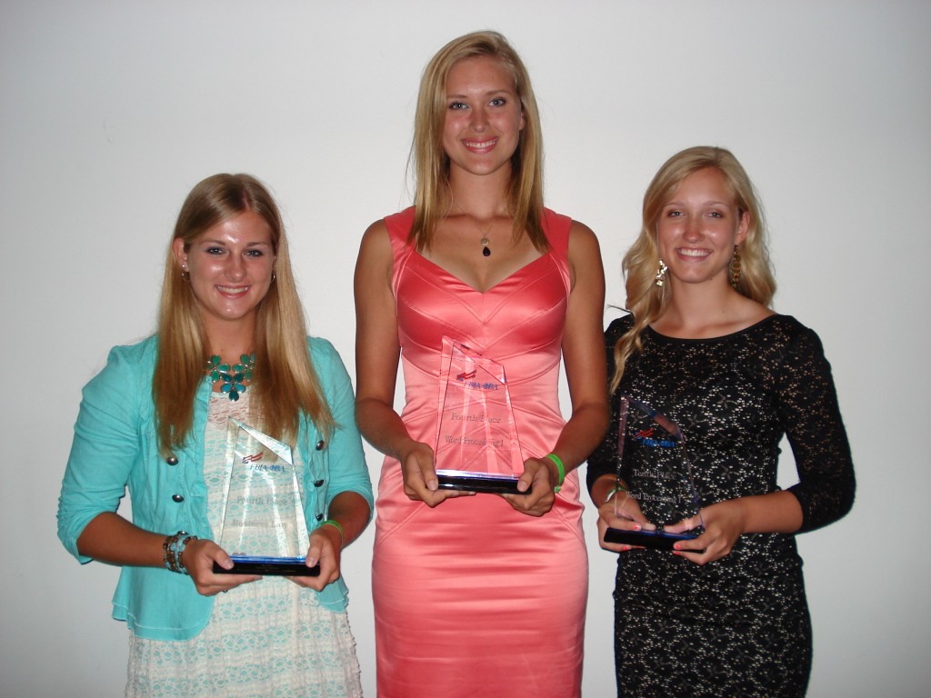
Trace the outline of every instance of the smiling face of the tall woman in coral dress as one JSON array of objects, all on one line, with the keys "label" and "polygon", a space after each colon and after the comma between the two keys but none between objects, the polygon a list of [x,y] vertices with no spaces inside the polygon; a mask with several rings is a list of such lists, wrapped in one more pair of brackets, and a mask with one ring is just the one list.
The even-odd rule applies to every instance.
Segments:
[{"label": "smiling face of the tall woman in coral dress", "polygon": [[500,60],[460,60],[446,77],[443,150],[456,170],[510,174],[511,156],[524,126],[514,78]]}]

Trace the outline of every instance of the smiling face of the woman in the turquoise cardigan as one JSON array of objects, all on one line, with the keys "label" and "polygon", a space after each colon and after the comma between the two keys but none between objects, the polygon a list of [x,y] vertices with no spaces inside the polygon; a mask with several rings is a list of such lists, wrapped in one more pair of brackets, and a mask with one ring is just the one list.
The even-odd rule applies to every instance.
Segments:
[{"label": "smiling face of the woman in the turquoise cardigan", "polygon": [[272,283],[275,249],[272,230],[256,213],[245,211],[217,223],[186,246],[175,238],[172,249],[190,274],[191,290],[207,328],[250,332]]}]

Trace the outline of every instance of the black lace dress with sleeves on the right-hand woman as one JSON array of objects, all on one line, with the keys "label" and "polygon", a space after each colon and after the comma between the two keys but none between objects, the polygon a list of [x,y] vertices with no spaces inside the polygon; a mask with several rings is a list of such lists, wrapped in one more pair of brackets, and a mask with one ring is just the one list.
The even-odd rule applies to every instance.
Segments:
[{"label": "black lace dress with sleeves on the right-hand woman", "polygon": [[[608,375],[614,342],[605,332]],[[620,393],[679,424],[702,505],[773,492],[783,434],[799,483],[789,489],[802,531],[843,517],[854,471],[830,365],[815,332],[772,315],[709,340],[642,335],[613,399],[612,429],[588,459],[588,486],[616,473]],[[625,459],[624,471],[635,466]],[[811,668],[811,624],[793,535],[741,536],[703,567],[668,552],[618,556],[614,650],[623,696],[801,696]]]}]

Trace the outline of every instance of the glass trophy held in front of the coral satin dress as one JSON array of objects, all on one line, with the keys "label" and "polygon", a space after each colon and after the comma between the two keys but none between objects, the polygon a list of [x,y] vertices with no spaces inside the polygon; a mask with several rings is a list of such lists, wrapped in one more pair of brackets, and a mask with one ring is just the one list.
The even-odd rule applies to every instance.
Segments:
[{"label": "glass trophy held in front of the coral satin dress", "polygon": [[434,453],[440,489],[530,491],[517,489],[523,458],[504,367],[449,337],[443,337]]}]

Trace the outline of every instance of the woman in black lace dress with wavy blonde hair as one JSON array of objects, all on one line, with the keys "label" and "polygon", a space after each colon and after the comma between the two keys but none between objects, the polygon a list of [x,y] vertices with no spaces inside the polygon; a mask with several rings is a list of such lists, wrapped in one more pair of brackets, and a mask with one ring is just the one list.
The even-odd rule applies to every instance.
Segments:
[{"label": "woman in black lace dress with wavy blonde hair", "polygon": [[[588,461],[601,546],[620,553],[614,590],[619,695],[798,696],[811,624],[795,534],[843,517],[850,448],[821,342],[770,302],[761,210],[733,154],[691,148],[660,168],[624,258],[630,315],[605,333],[613,427]],[[617,473],[620,396],[681,429],[704,525],[669,551],[604,542],[649,530]],[[788,435],[799,482],[776,486]]]}]

